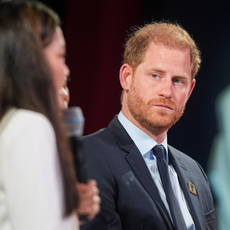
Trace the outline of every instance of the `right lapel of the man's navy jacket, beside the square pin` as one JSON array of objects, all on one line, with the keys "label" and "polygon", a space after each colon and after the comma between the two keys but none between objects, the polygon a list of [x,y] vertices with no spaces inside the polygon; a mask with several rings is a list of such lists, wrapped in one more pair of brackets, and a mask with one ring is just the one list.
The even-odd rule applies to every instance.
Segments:
[{"label": "right lapel of the man's navy jacket, beside the square pin", "polygon": [[177,150],[172,149],[169,146],[169,158],[174,169],[177,172],[180,186],[184,192],[185,199],[190,209],[190,213],[193,217],[193,221],[196,225],[196,230],[203,230],[205,226],[205,219],[203,209],[200,204],[199,194],[194,195],[189,191],[188,182],[196,186],[196,181],[192,178],[191,174],[187,170],[186,166],[182,163],[178,156]]}]

